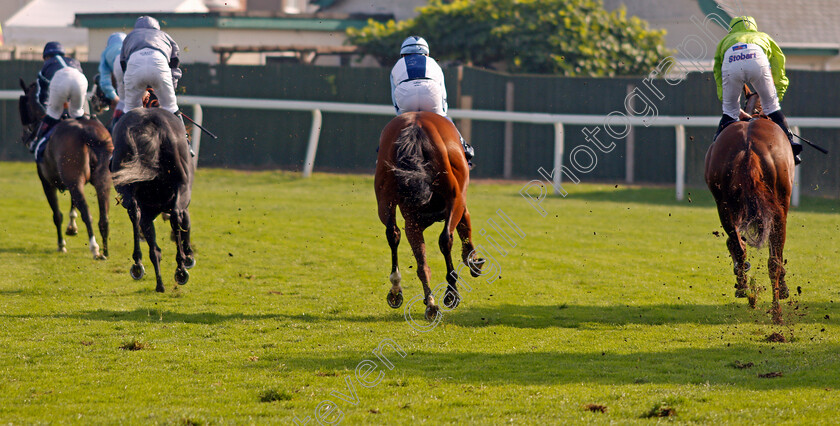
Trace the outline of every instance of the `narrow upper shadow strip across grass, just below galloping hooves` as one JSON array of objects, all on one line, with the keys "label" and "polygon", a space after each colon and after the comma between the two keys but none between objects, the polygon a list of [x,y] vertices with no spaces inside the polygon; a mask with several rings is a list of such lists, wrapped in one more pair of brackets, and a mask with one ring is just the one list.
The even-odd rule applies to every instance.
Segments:
[{"label": "narrow upper shadow strip across grass, just below galloping hooves", "polygon": [[[443,321],[459,327],[503,326],[513,328],[600,328],[600,325],[665,325],[665,324],[744,324],[756,321],[770,323],[764,311],[769,304],[759,305],[751,310],[746,302],[720,305],[676,305],[658,304],[644,306],[590,306],[590,305],[495,305],[469,308],[461,305],[453,312],[444,314]],[[783,305],[786,322],[789,324],[832,323],[826,313],[836,312],[840,303],[800,303]],[[414,320],[426,324],[423,310],[417,310],[419,318]],[[26,317],[31,315],[0,315],[0,317]],[[372,315],[337,314],[220,314],[216,312],[183,313],[159,311],[154,308],[138,308],[131,311],[99,309],[69,314],[43,315],[46,318],[73,318],[88,321],[134,321],[187,324],[220,324],[231,321],[298,321],[307,323],[351,322],[351,323],[399,323],[405,322],[403,310],[392,311],[383,308]],[[830,316],[829,316],[830,317]]]}]

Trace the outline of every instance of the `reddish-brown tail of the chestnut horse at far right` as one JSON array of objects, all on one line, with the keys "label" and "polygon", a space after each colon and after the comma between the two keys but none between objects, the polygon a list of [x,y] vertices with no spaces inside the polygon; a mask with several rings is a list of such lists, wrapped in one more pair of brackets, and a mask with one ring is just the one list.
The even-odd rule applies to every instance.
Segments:
[{"label": "reddish-brown tail of the chestnut horse at far right", "polygon": [[734,171],[735,187],[740,191],[736,223],[747,244],[760,248],[770,236],[776,203],[764,181],[761,159],[749,145],[748,142],[742,166]]}]

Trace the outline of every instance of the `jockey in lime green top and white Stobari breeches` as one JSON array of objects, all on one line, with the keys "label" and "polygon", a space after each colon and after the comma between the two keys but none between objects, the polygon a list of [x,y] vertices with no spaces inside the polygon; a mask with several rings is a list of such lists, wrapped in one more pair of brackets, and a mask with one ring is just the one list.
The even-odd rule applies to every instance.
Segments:
[{"label": "jockey in lime green top and white Stobari breeches", "polygon": [[718,99],[723,101],[723,117],[715,139],[726,126],[738,121],[741,90],[751,83],[761,97],[764,113],[779,125],[793,148],[794,161],[802,160],[802,144],[793,141],[779,102],[785,96],[785,55],[773,39],[758,31],[751,16],[738,16],[729,23],[729,34],[720,41],[715,54],[715,82]]}]

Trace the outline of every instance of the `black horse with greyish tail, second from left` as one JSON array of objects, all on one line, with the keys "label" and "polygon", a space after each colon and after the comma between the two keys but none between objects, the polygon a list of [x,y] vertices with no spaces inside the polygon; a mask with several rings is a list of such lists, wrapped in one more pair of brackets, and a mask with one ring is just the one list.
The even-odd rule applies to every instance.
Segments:
[{"label": "black horse with greyish tail, second from left", "polygon": [[154,220],[159,214],[168,213],[177,249],[175,282],[186,284],[190,277],[187,269],[195,265],[188,210],[195,170],[184,124],[161,108],[137,108],[125,113],[114,127],[111,168],[114,187],[134,228],[132,278],[139,280],[145,274],[140,263],[142,232],[155,268],[155,290],[164,291]]}]

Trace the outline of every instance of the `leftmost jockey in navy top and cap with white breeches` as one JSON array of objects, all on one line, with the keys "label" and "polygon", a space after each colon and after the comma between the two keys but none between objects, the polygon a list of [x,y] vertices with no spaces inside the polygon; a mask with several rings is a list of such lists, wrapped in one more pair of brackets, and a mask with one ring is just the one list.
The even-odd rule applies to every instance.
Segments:
[{"label": "leftmost jockey in navy top and cap with white breeches", "polygon": [[84,99],[87,91],[87,78],[82,73],[82,65],[74,58],[64,57],[64,47],[57,41],[44,46],[44,66],[38,73],[38,102],[45,106],[47,115],[41,121],[31,140],[29,151],[46,140],[47,132],[53,128],[64,114],[64,102],[69,101],[68,113],[79,119],[84,117]]}]

